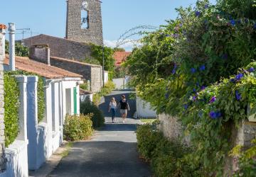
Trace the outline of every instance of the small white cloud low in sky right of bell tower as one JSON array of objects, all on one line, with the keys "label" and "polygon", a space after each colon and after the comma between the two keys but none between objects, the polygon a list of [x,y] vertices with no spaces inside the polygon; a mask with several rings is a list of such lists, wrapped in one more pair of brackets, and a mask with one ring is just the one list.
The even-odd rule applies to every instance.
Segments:
[{"label": "small white cloud low in sky right of bell tower", "polygon": [[122,47],[124,48],[126,51],[132,51],[132,49],[139,44],[139,42],[137,42],[136,40],[124,40],[122,42],[118,42],[117,40],[104,40],[104,45],[106,45],[107,47],[117,47],[117,44],[122,43],[121,45],[119,45],[118,47]]}]

